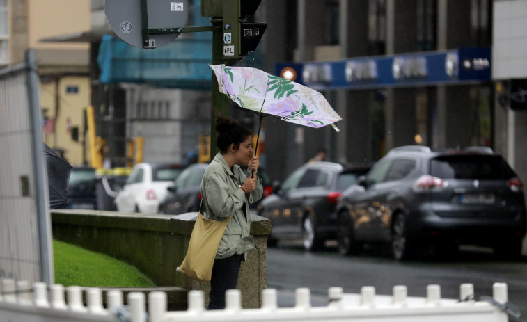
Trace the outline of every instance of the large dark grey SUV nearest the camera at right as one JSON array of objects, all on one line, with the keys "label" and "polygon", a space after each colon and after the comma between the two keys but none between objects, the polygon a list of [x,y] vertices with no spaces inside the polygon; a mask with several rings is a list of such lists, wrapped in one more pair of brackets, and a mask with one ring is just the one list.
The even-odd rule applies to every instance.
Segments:
[{"label": "large dark grey SUV nearest the camera at right", "polygon": [[522,189],[505,159],[489,148],[398,147],[343,193],[338,247],[352,254],[363,243],[388,243],[400,260],[471,244],[518,257],[527,225]]}]

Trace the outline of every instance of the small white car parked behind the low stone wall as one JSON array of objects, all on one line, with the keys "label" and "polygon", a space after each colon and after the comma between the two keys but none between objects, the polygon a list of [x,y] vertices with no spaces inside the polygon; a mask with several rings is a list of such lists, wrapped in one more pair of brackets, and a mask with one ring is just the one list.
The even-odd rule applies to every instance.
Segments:
[{"label": "small white car parked behind the low stone wall", "polygon": [[182,171],[177,164],[139,163],[116,196],[117,211],[157,214],[159,202]]}]

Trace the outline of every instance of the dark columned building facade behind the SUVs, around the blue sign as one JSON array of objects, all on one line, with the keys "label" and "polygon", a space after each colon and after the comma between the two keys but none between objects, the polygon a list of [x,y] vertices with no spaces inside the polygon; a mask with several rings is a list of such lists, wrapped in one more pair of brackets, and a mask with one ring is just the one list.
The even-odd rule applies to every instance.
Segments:
[{"label": "dark columned building facade behind the SUVs, around the blue sign", "polygon": [[[519,140],[522,136],[520,128],[525,128],[522,121],[524,115],[512,112],[512,117],[510,108],[497,103],[499,95],[496,94],[496,82],[490,77],[490,71],[496,75],[496,68],[501,68],[497,63],[494,64],[496,58],[485,56],[482,59],[464,61],[459,54],[458,61],[454,63],[458,64],[460,71],[486,69],[487,77],[464,81],[459,77],[456,81],[444,82],[427,81],[420,77],[424,76],[421,74],[423,70],[441,68],[445,72],[448,69],[446,61],[445,65],[433,67],[430,61],[409,59],[415,56],[441,55],[450,51],[460,52],[467,48],[486,49],[495,56],[496,50],[500,50],[496,48],[496,43],[501,41],[496,37],[503,37],[496,35],[494,31],[495,7],[505,6],[505,3],[524,6],[526,2],[263,2],[265,8],[258,11],[257,15],[268,26],[263,43],[260,44],[264,47],[265,69],[279,73],[280,70],[276,70],[277,62],[284,62],[278,64],[280,66],[297,64],[300,68],[297,73],[304,76],[303,81],[306,81],[305,67],[313,63],[320,65],[327,62],[331,65],[336,61],[379,61],[391,58],[392,65],[375,72],[378,75],[395,75],[396,63],[393,62],[397,61],[395,58],[402,57],[407,66],[400,66],[400,72],[404,73],[407,80],[414,78],[407,83],[379,84],[371,79],[368,83],[368,75],[371,75],[368,70],[362,70],[359,77],[363,77],[365,81],[361,86],[348,83],[347,86],[338,88],[329,83],[315,83],[317,89],[324,93],[343,117],[343,121],[337,124],[341,129],[340,133],[334,133],[331,128],[294,128],[290,124],[267,119],[267,168],[274,178],[283,179],[292,169],[310,159],[319,147],[329,150],[331,161],[363,163],[376,161],[391,148],[401,145],[428,145],[436,149],[484,145],[507,157],[519,175],[527,178],[526,170],[517,161],[524,157],[521,151],[525,149],[521,147],[522,140]],[[512,32],[516,34],[520,30],[523,29],[518,27]],[[503,32],[510,36],[511,31]],[[516,42],[517,46],[520,43],[525,42]],[[515,50],[518,49],[510,49],[509,52]],[[523,56],[514,59],[525,62]],[[424,62],[424,67],[420,62]],[[520,66],[524,65],[517,65]],[[331,75],[324,74],[324,70],[319,70],[316,77],[319,80],[324,80],[324,77],[331,80]],[[510,78],[501,76],[501,79]],[[502,85],[508,86],[509,83],[505,81]],[[512,120],[516,122],[514,130],[510,129]],[[284,133],[288,140],[282,139]],[[274,149],[281,153],[273,154]],[[511,152],[512,150],[515,152]],[[287,162],[283,163],[283,159]],[[273,164],[285,166],[274,168]]]}]

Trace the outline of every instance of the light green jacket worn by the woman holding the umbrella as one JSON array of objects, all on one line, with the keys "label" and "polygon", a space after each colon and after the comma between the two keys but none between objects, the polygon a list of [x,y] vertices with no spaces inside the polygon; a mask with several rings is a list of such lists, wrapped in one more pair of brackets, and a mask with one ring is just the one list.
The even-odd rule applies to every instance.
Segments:
[{"label": "light green jacket worn by the woman holding the umbrella", "polygon": [[[243,184],[246,179],[247,175],[238,165],[233,166],[232,171],[230,170],[221,153],[214,156],[214,160],[203,175],[201,181],[201,195],[203,196],[201,213],[203,216],[214,220],[225,220],[234,214],[219,243],[217,259],[235,254],[246,254],[254,249],[254,239],[249,234],[251,230],[249,199],[255,202],[262,198],[263,186],[262,179],[258,179],[256,190],[252,192],[252,198],[249,198],[251,193],[245,194],[239,188],[239,185]],[[247,216],[242,207],[245,207]]]}]

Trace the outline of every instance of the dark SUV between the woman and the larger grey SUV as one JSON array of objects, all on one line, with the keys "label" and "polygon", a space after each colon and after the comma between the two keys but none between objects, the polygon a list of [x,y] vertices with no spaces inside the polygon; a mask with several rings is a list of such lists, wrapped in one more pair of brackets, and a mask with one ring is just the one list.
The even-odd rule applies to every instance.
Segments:
[{"label": "dark SUV between the woman and the larger grey SUV", "polygon": [[368,172],[368,166],[344,167],[332,162],[304,164],[258,206],[272,221],[269,245],[280,239],[301,239],[306,250],[320,250],[336,239],[336,204],[341,193]]}]

